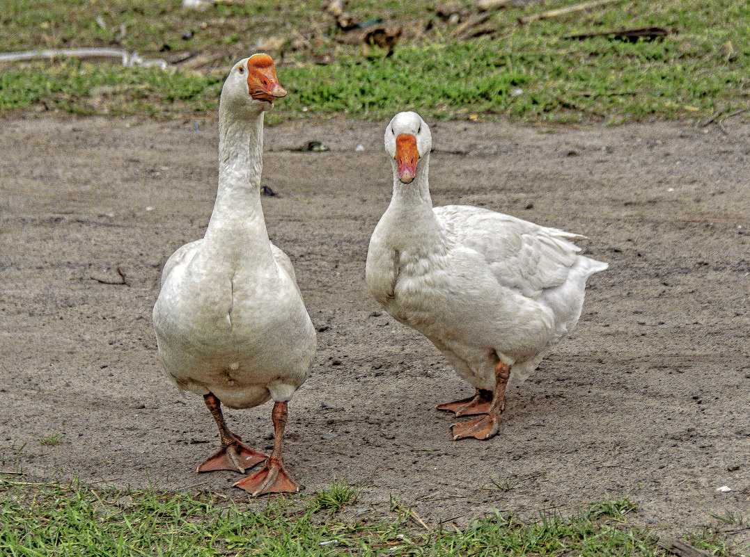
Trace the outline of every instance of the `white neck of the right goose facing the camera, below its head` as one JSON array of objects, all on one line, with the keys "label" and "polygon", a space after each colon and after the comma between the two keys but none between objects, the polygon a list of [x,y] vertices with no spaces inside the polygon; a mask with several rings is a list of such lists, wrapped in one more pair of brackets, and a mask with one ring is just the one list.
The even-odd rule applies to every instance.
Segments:
[{"label": "white neck of the right goose facing the camera, below its head", "polygon": [[402,183],[398,179],[395,160],[392,165],[393,197],[384,215],[392,231],[389,245],[402,252],[423,252],[425,249],[442,251],[446,239],[432,210],[429,155],[420,159],[412,183]]}]

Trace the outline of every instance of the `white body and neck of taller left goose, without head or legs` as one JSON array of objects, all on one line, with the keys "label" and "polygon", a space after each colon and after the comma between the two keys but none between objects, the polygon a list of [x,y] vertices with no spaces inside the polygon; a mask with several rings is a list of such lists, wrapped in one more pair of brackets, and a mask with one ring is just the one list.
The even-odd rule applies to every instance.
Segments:
[{"label": "white body and neck of taller left goose, without head or legs", "polygon": [[153,313],[166,375],[231,408],[288,401],[308,377],[316,344],[290,259],[269,241],[263,219],[262,118],[250,129],[220,120],[211,221],[202,240],[166,262]]}]

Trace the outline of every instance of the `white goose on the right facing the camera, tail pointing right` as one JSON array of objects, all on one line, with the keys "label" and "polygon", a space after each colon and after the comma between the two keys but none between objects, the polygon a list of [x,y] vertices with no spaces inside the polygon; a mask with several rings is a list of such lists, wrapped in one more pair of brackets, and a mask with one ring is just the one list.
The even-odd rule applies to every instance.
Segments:
[{"label": "white goose on the right facing the camera, tail pointing right", "polygon": [[432,139],[416,112],[386,127],[393,197],[370,240],[366,278],[396,320],[422,332],[476,394],[443,404],[453,438],[499,429],[505,387],[523,383],[580,317],[586,279],[607,264],[578,255],[582,238],[479,207],[434,207]]}]

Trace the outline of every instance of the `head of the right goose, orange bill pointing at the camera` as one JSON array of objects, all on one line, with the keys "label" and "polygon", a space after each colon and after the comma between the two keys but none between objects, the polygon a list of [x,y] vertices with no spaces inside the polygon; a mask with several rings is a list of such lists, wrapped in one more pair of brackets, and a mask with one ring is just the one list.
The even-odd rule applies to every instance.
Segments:
[{"label": "head of the right goose, orange bill pointing at the camera", "polygon": [[398,174],[401,183],[411,183],[417,174],[420,159],[426,159],[430,154],[430,127],[416,112],[399,112],[386,127],[385,139],[394,174]]}]

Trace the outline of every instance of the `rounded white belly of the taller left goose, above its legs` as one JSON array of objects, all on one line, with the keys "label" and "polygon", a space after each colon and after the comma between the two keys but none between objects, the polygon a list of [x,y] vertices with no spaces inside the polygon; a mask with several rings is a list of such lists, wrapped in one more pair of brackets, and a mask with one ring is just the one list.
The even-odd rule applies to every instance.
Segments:
[{"label": "rounded white belly of the taller left goose, above its legs", "polygon": [[181,288],[180,296],[163,289],[154,327],[166,374],[180,389],[212,392],[229,407],[288,400],[314,358],[310,317],[296,289],[241,283]]}]

